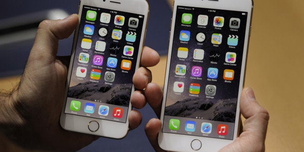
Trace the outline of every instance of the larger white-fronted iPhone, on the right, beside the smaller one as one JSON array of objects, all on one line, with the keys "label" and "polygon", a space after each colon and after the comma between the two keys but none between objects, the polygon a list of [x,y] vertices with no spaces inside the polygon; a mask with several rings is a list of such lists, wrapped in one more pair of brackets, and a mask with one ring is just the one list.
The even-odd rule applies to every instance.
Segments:
[{"label": "larger white-fronted iPhone, on the right, beside the smaller one", "polygon": [[162,129],[168,151],[218,151],[238,137],[252,0],[175,0]]}]

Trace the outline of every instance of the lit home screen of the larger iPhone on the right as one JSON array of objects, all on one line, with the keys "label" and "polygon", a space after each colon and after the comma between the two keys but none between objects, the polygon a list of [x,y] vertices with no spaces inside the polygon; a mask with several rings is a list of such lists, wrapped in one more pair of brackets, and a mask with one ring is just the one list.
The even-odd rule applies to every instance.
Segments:
[{"label": "lit home screen of the larger iPhone on the right", "polygon": [[233,139],[247,17],[177,6],[163,132]]}]

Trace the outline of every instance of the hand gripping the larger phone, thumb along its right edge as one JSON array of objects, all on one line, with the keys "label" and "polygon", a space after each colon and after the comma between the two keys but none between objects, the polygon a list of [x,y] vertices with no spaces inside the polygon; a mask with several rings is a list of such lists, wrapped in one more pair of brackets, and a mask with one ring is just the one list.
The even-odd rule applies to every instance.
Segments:
[{"label": "hand gripping the larger phone, thumb along its right edge", "polygon": [[[161,102],[153,103],[161,105]],[[265,151],[265,138],[269,120],[268,112],[256,101],[251,88],[244,88],[240,100],[241,114],[246,119],[243,132],[231,144],[222,148],[220,152],[262,152]],[[156,111],[159,117],[160,110]],[[162,127],[159,119],[151,119],[145,127],[146,135],[156,152],[162,152],[158,145],[158,132]]]}]

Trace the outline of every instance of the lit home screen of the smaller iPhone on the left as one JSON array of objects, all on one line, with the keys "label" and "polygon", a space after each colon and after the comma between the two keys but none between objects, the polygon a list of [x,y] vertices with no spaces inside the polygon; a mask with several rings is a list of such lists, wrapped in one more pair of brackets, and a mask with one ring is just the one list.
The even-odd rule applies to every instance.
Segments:
[{"label": "lit home screen of the smaller iPhone on the left", "polygon": [[65,113],[126,122],[144,17],[83,6]]}]

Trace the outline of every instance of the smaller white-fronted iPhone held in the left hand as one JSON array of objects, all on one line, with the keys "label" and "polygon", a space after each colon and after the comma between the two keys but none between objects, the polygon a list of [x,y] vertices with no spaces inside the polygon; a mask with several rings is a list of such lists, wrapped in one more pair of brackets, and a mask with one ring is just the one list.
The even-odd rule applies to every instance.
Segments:
[{"label": "smaller white-fronted iPhone held in the left hand", "polygon": [[146,33],[146,0],[81,0],[62,128],[123,138]]}]

